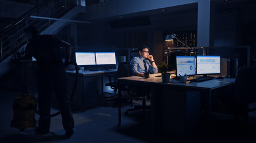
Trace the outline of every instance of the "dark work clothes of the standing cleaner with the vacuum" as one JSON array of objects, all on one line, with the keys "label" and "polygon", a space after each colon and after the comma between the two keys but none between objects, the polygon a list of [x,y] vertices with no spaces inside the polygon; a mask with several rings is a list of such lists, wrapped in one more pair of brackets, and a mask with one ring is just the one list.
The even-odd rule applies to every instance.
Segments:
[{"label": "dark work clothes of the standing cleaner with the vacuum", "polygon": [[[36,35],[26,47],[25,57],[38,63],[38,107],[40,119],[36,131],[48,133],[50,129],[50,98],[55,92],[61,110],[62,124],[67,133],[73,134],[74,119],[70,96],[67,94],[67,73],[61,59],[61,40],[52,35]],[[71,136],[70,135],[70,136]]]}]

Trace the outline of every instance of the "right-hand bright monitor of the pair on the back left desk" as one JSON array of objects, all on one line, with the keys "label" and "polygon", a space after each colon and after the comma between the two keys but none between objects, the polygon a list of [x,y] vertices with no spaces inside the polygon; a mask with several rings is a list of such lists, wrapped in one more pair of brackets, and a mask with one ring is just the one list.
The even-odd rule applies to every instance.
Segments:
[{"label": "right-hand bright monitor of the pair on the back left desk", "polygon": [[116,64],[115,52],[95,52],[97,65]]}]

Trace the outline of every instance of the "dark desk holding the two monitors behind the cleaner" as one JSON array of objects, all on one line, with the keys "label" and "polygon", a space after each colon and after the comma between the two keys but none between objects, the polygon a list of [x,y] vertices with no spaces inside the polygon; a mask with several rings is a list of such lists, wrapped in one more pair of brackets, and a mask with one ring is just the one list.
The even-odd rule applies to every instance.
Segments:
[{"label": "dark desk holding the two monitors behind the cleaner", "polygon": [[[79,79],[73,101],[74,111],[85,111],[86,108],[97,106],[97,85],[101,84],[101,98],[104,99],[103,76],[104,74],[116,74],[117,69],[99,71],[79,70]],[[73,85],[76,71],[67,71],[69,84]],[[101,83],[97,83],[97,76],[101,76]],[[73,86],[71,87],[73,88]],[[70,89],[70,93],[73,89]]]}]

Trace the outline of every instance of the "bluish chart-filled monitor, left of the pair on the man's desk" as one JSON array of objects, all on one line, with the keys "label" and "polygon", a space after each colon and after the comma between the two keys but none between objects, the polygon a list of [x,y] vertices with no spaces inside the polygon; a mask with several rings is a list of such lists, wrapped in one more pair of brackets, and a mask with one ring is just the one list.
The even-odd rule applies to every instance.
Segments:
[{"label": "bluish chart-filled monitor, left of the pair on the man's desk", "polygon": [[195,57],[194,56],[176,56],[177,76],[195,75]]}]

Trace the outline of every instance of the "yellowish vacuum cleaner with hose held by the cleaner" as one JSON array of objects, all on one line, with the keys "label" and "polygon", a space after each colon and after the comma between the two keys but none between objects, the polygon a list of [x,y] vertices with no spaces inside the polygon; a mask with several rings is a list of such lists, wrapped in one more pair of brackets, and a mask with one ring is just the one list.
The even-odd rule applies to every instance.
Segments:
[{"label": "yellowish vacuum cleaner with hose held by the cleaner", "polygon": [[[28,63],[30,61],[23,61],[23,63]],[[76,62],[71,61],[70,64],[73,64],[76,68],[76,77],[74,82],[73,91],[71,94],[71,101],[74,97],[74,92],[76,91],[77,80],[79,76],[79,68]],[[13,102],[13,120],[11,120],[11,127],[18,128],[20,131],[23,131],[26,128],[35,128],[36,121],[35,121],[35,113],[40,114],[40,111],[36,111],[37,109],[37,100],[34,94],[28,93],[28,86],[26,86],[26,70],[24,65],[24,89],[22,94],[19,94],[15,97]],[[55,117],[59,115],[61,111],[57,113],[51,114],[51,117]]]}]

